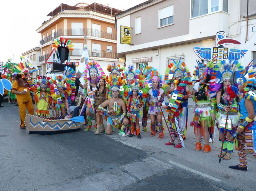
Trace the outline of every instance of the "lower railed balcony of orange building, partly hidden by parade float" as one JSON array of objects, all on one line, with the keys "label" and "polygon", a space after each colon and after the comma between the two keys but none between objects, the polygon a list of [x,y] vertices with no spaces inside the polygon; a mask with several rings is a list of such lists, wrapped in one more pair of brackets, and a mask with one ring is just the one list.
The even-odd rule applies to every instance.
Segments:
[{"label": "lower railed balcony of orange building, partly hidden by parade float", "polygon": [[[78,56],[82,55],[83,49],[74,49],[70,51],[70,56]],[[108,52],[103,50],[93,50],[88,49],[88,54],[90,57],[100,57],[100,58],[110,58],[110,59],[117,59],[117,53],[115,52]],[[45,61],[50,54],[46,54],[39,57],[39,62]]]}]

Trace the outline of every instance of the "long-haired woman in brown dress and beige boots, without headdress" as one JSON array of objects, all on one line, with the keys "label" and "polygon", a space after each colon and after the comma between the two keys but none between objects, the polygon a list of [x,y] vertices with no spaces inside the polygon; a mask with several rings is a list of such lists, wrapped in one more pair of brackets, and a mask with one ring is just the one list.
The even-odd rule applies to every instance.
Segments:
[{"label": "long-haired woman in brown dress and beige boots, without headdress", "polygon": [[[99,78],[99,85],[98,85],[98,89],[95,97],[95,111],[96,111],[96,121],[97,121],[97,130],[94,133],[95,135],[98,135],[105,131],[103,118],[102,118],[103,113],[98,110],[98,107],[104,101],[107,100],[107,97],[108,97],[107,90],[108,89],[106,87],[106,79],[103,77]],[[106,107],[104,109],[106,109]]]}]

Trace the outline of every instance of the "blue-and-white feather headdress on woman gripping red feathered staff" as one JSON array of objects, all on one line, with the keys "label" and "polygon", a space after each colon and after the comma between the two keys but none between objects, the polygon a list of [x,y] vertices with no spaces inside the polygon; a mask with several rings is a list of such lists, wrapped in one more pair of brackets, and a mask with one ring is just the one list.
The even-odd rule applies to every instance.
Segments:
[{"label": "blue-and-white feather headdress on woman gripping red feathered staff", "polygon": [[236,72],[237,77],[239,78],[239,72],[237,68],[238,61],[229,61],[226,62],[225,60],[220,61],[216,65],[217,69],[217,76],[216,76],[216,82],[222,83],[226,79],[230,79],[232,74]]}]

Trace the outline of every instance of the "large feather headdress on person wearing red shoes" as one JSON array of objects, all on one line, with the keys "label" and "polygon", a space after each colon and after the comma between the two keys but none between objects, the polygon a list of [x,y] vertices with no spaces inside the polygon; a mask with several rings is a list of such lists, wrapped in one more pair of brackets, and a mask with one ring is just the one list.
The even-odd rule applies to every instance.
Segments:
[{"label": "large feather headdress on person wearing red shoes", "polygon": [[167,66],[164,79],[165,82],[170,85],[176,77],[191,77],[189,69],[186,67],[185,62],[183,62],[181,58],[179,61],[175,61],[173,59],[173,62]]}]

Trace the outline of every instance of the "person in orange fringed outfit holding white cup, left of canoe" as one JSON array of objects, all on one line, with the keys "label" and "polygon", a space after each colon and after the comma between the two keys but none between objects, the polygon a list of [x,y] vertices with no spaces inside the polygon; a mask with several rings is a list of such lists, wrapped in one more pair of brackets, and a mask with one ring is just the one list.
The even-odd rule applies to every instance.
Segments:
[{"label": "person in orange fringed outfit holding white cup, left of canoe", "polygon": [[19,63],[18,66],[13,67],[19,72],[12,83],[11,91],[12,93],[16,94],[19,105],[21,119],[20,128],[25,129],[26,109],[28,110],[29,114],[34,115],[33,102],[30,96],[30,88],[33,86],[33,83],[29,77],[29,74],[37,71],[38,69],[29,71],[28,64],[25,62],[24,57],[21,57],[21,63]]}]

